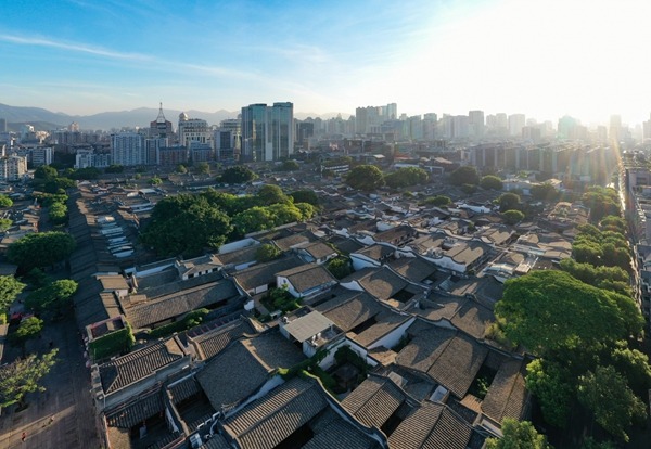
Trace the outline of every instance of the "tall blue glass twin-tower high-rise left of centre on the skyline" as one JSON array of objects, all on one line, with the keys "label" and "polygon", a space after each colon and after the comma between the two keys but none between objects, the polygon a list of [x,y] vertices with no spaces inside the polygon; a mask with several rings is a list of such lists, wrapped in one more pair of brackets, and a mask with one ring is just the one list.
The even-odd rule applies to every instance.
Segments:
[{"label": "tall blue glass twin-tower high-rise left of centre on the skyline", "polygon": [[242,107],[242,161],[278,161],[294,152],[294,105]]}]

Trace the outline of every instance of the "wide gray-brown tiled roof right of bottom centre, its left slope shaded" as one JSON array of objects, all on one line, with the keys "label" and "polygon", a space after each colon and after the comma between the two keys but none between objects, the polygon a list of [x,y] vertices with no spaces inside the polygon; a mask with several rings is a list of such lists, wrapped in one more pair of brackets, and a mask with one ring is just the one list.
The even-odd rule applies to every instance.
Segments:
[{"label": "wide gray-brown tiled roof right of bottom centre, its left slope shaded", "polygon": [[488,349],[462,333],[430,326],[398,354],[396,363],[426,373],[462,398],[482,367]]}]

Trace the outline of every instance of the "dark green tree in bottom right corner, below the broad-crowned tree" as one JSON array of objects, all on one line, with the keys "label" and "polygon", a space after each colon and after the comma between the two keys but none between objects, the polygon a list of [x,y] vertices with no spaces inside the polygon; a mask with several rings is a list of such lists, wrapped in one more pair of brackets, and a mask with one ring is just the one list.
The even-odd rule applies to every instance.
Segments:
[{"label": "dark green tree in bottom right corner, below the broad-crowned tree", "polygon": [[578,400],[609,434],[628,442],[627,429],[647,419],[644,403],[613,367],[597,367],[579,379]]}]

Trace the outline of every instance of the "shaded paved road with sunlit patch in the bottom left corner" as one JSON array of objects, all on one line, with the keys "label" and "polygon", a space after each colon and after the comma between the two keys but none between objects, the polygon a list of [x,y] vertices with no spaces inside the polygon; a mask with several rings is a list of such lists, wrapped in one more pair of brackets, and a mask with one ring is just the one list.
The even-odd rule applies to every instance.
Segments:
[{"label": "shaded paved road with sunlit patch in the bottom left corner", "polygon": [[[47,390],[29,394],[26,410],[17,412],[15,406],[2,410],[0,448],[100,448],[89,393],[90,376],[74,319],[47,325],[43,336],[29,342],[27,348],[44,352],[50,341],[59,348],[59,362],[43,377]],[[18,355],[20,350],[7,348],[3,362]],[[26,433],[24,442],[21,441],[23,432]]]}]

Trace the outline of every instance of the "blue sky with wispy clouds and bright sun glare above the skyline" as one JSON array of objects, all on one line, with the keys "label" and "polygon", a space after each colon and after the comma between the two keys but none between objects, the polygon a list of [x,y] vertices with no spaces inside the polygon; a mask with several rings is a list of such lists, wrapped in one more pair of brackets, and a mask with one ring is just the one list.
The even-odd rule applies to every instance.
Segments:
[{"label": "blue sky with wispy clouds and bright sun glare above the skyline", "polygon": [[0,0],[0,103],[295,113],[651,112],[649,0]]}]

